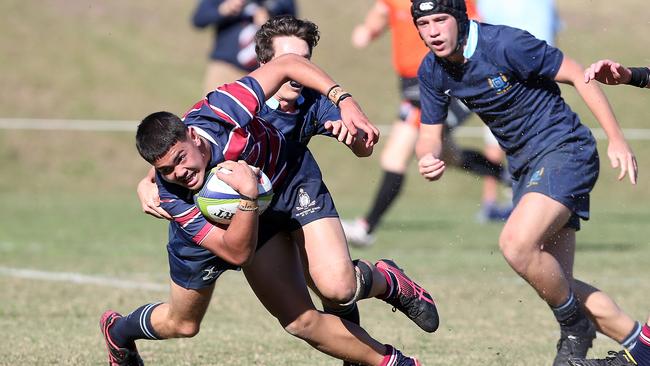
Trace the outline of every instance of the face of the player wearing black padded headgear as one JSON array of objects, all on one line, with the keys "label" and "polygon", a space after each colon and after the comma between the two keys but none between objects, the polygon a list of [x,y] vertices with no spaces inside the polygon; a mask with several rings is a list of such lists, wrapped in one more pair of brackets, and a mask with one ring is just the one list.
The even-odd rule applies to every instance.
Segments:
[{"label": "face of the player wearing black padded headgear", "polygon": [[420,38],[437,56],[451,56],[458,44],[458,22],[449,14],[438,13],[418,18],[415,25]]}]

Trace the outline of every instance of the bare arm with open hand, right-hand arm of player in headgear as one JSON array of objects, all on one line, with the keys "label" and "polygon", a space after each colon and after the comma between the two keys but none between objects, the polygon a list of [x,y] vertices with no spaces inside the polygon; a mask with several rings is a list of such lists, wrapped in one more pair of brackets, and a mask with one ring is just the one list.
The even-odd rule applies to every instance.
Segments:
[{"label": "bare arm with open hand, right-hand arm of player in headgear", "polygon": [[580,64],[569,57],[564,57],[562,65],[555,76],[555,81],[573,85],[587,107],[598,120],[609,140],[607,156],[612,168],[620,168],[618,179],[627,174],[632,184],[636,184],[638,167],[632,149],[625,141],[612,107],[607,97],[596,83],[585,83]]}]

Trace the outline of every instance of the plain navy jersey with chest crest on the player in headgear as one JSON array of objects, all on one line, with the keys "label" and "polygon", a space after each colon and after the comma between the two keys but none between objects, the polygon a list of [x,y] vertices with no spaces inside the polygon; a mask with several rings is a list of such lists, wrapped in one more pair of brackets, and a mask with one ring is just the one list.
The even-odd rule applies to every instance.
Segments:
[{"label": "plain navy jersey with chest crest on the player in headgear", "polygon": [[593,141],[554,81],[563,55],[528,32],[471,22],[468,61],[451,64],[429,53],[418,72],[422,123],[445,121],[450,97],[460,99],[506,151],[510,171],[571,141]]}]

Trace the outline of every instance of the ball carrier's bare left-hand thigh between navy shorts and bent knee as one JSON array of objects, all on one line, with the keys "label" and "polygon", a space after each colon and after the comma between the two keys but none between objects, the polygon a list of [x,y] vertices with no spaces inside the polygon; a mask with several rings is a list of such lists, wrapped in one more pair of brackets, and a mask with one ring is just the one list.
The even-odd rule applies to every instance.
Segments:
[{"label": "ball carrier's bare left-hand thigh between navy shorts and bent knee", "polygon": [[210,305],[214,284],[187,289],[171,281],[170,290],[168,317],[177,322],[200,323]]}]

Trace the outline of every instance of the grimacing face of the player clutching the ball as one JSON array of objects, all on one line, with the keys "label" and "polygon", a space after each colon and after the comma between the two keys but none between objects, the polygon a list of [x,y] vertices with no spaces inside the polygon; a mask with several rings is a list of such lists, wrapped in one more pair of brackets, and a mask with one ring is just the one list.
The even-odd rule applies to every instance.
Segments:
[{"label": "grimacing face of the player clutching the ball", "polygon": [[199,136],[193,130],[188,130],[188,138],[176,142],[156,160],[154,168],[170,183],[190,190],[201,188],[209,159],[200,149],[201,143]]}]

